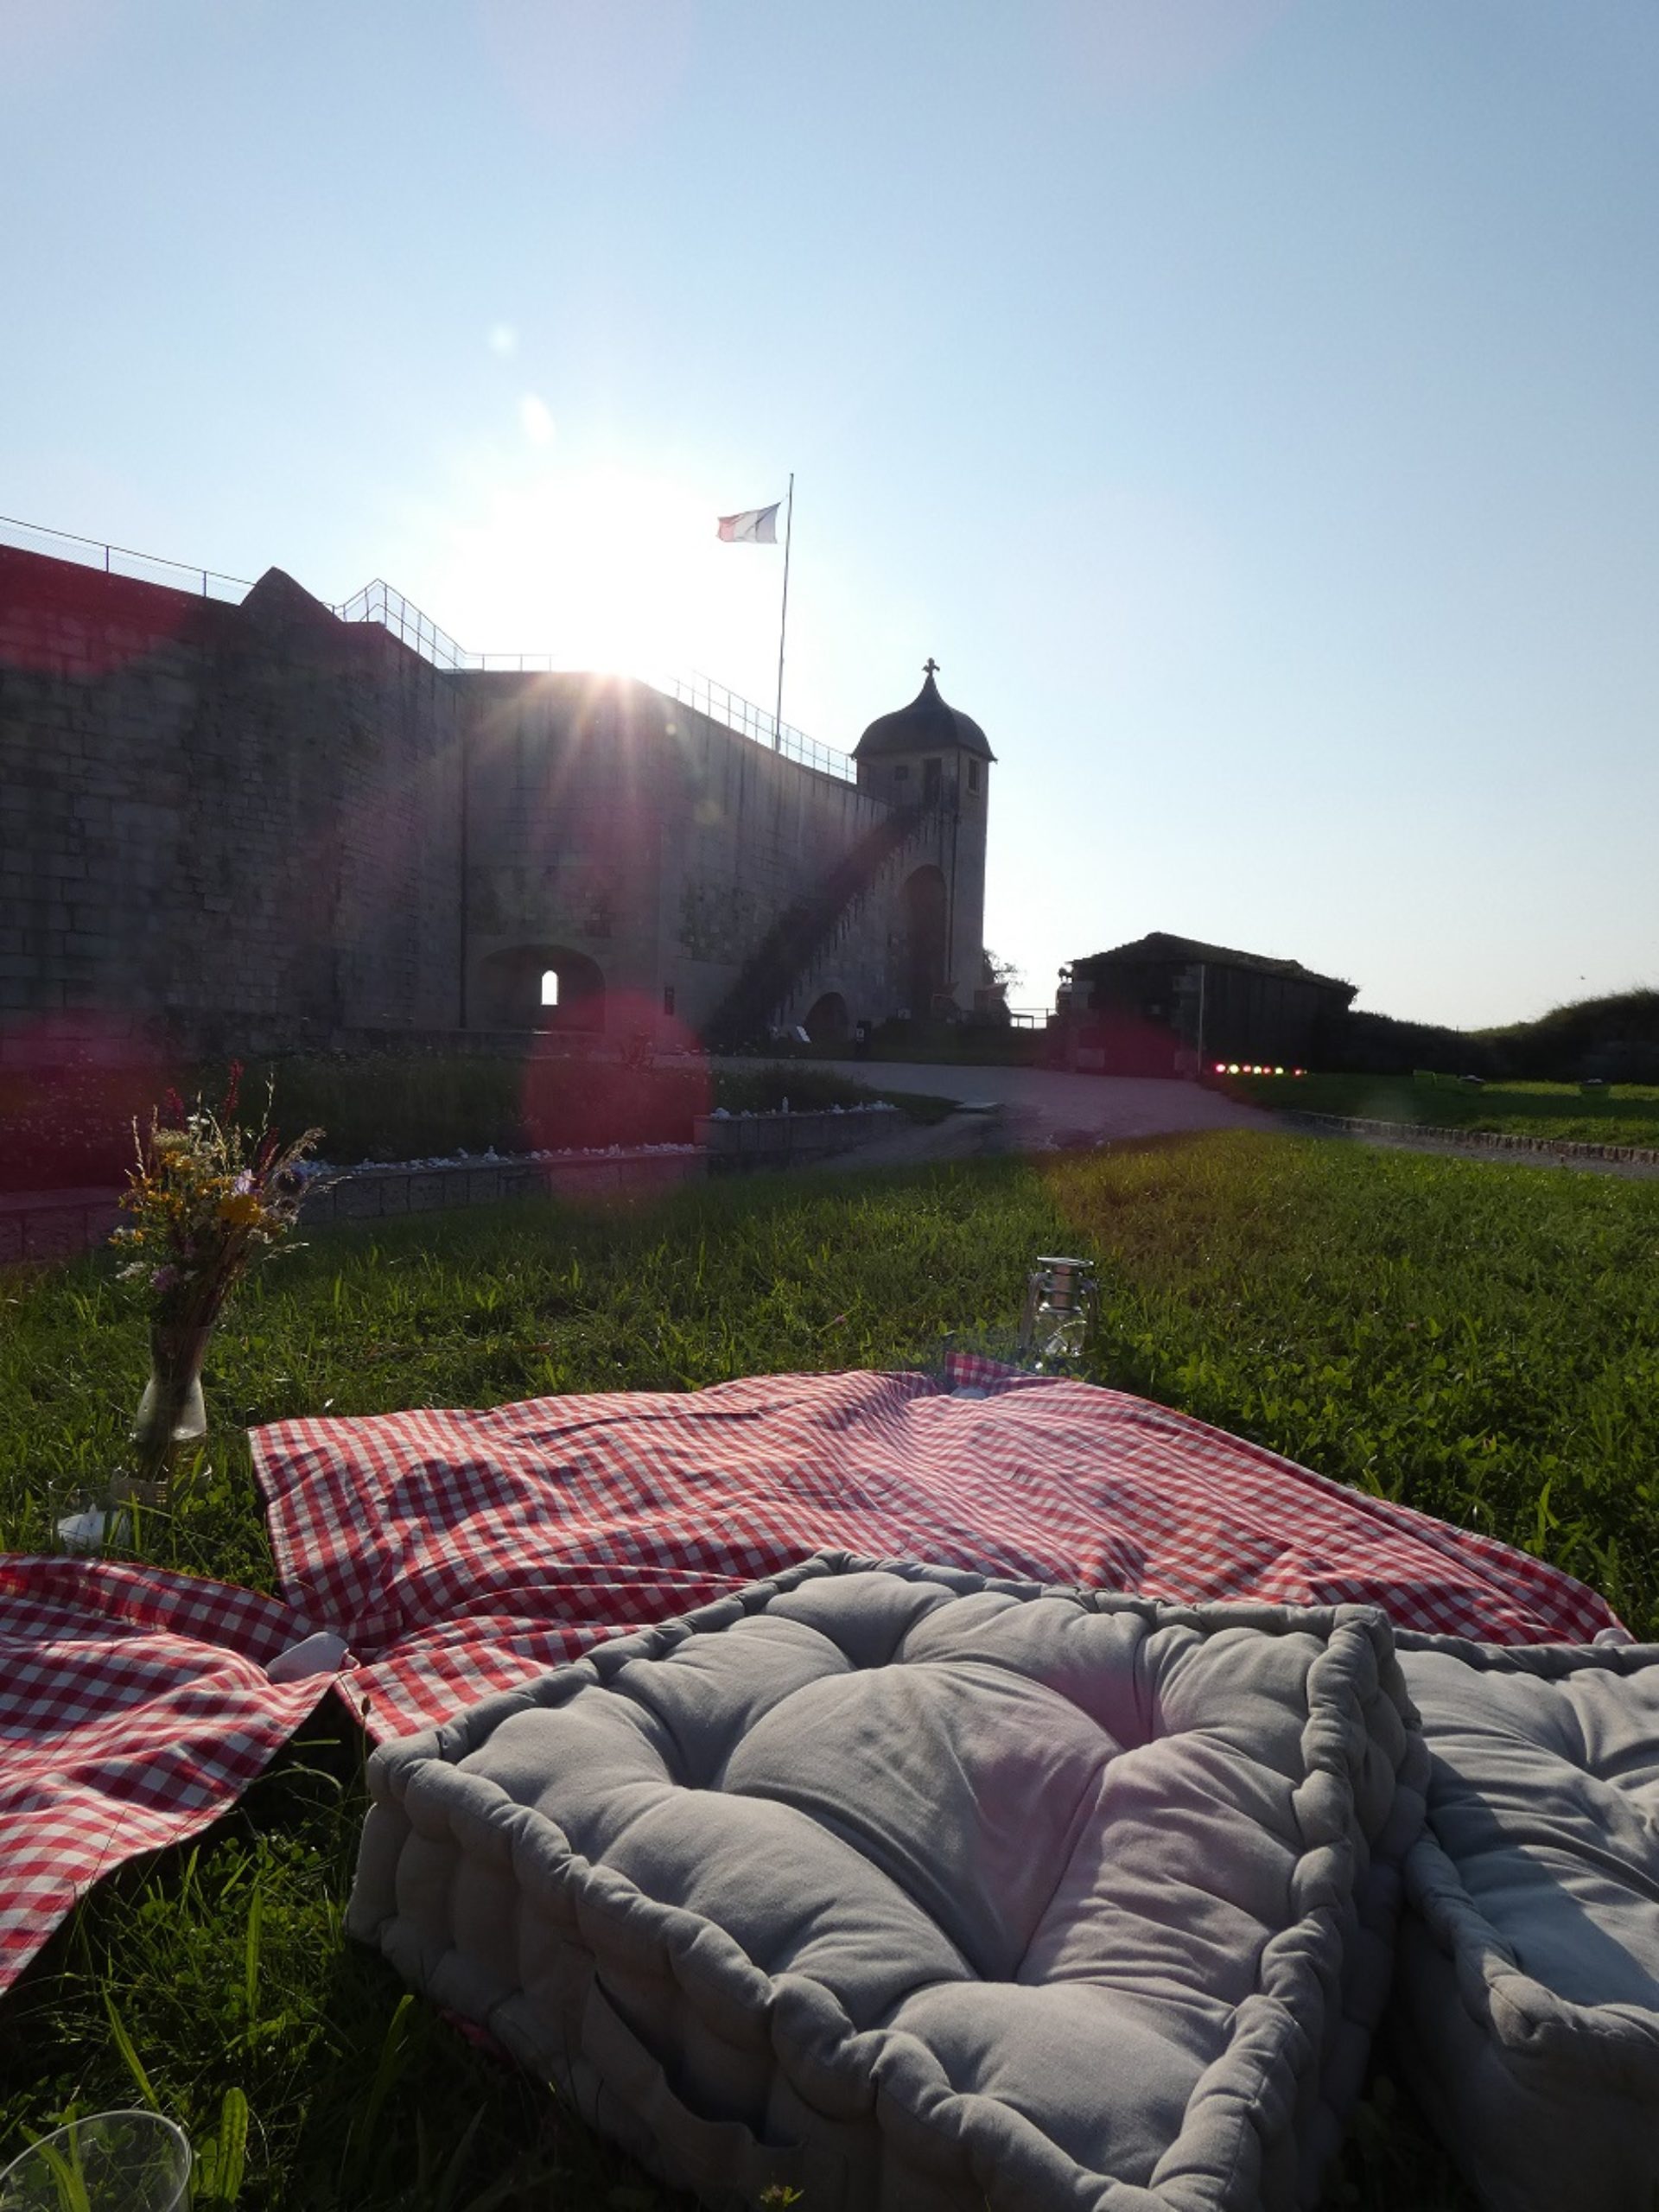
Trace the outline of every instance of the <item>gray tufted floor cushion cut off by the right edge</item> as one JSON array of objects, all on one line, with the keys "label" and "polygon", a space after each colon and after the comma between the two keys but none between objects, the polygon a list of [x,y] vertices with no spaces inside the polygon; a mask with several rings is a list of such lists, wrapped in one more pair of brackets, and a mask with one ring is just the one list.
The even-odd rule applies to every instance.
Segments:
[{"label": "gray tufted floor cushion cut off by the right edge", "polygon": [[1493,2212],[1659,2205],[1659,1648],[1400,1637],[1400,2068]]}]

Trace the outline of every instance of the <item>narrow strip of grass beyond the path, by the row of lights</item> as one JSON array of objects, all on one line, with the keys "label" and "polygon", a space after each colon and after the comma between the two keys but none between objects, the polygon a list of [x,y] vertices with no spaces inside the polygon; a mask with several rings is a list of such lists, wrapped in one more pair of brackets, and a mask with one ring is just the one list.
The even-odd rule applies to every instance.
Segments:
[{"label": "narrow strip of grass beyond the path, by the row of lights", "polygon": [[1294,1113],[1413,1121],[1420,1128],[1484,1128],[1571,1144],[1659,1146],[1659,1086],[1464,1084],[1455,1075],[1232,1075],[1225,1088],[1250,1106]]}]

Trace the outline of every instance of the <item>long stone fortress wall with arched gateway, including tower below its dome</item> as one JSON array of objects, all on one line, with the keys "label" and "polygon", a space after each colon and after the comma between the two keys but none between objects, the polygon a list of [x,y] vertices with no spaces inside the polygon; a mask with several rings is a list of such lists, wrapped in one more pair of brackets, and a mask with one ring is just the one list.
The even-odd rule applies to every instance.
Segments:
[{"label": "long stone fortress wall with arched gateway, including tower below its dome", "polygon": [[0,1042],[969,1009],[984,779],[916,807],[889,774],[624,679],[436,668],[281,571],[232,606],[0,549]]}]

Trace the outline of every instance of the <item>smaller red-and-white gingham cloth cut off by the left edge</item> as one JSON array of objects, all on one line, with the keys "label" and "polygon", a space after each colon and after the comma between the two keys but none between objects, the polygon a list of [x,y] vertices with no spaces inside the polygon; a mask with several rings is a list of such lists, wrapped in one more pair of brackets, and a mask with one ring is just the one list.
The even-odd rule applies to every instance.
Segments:
[{"label": "smaller red-and-white gingham cloth cut off by the left edge", "polygon": [[219,1582],[0,1557],[0,1991],[102,1874],[206,1827],[281,1750],[330,1686],[265,1679],[301,1632]]}]

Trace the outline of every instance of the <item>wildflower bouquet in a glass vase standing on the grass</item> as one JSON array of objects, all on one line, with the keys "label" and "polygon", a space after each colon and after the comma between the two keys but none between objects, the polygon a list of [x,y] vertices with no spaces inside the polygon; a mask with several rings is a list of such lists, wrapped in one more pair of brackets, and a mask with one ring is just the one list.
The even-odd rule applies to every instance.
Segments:
[{"label": "wildflower bouquet in a glass vase standing on the grass", "polygon": [[133,1422],[137,1464],[126,1495],[159,1502],[173,1453],[206,1436],[201,1360],[226,1298],[254,1259],[288,1241],[305,1197],[303,1161],[323,1135],[307,1128],[283,1144],[270,1128],[237,1121],[241,1064],[232,1062],[221,1104],[192,1108],[168,1091],[150,1126],[133,1124],[137,1166],[122,1208],[133,1217],[111,1243],[128,1252],[124,1281],[142,1283],[150,1307],[150,1380]]}]

